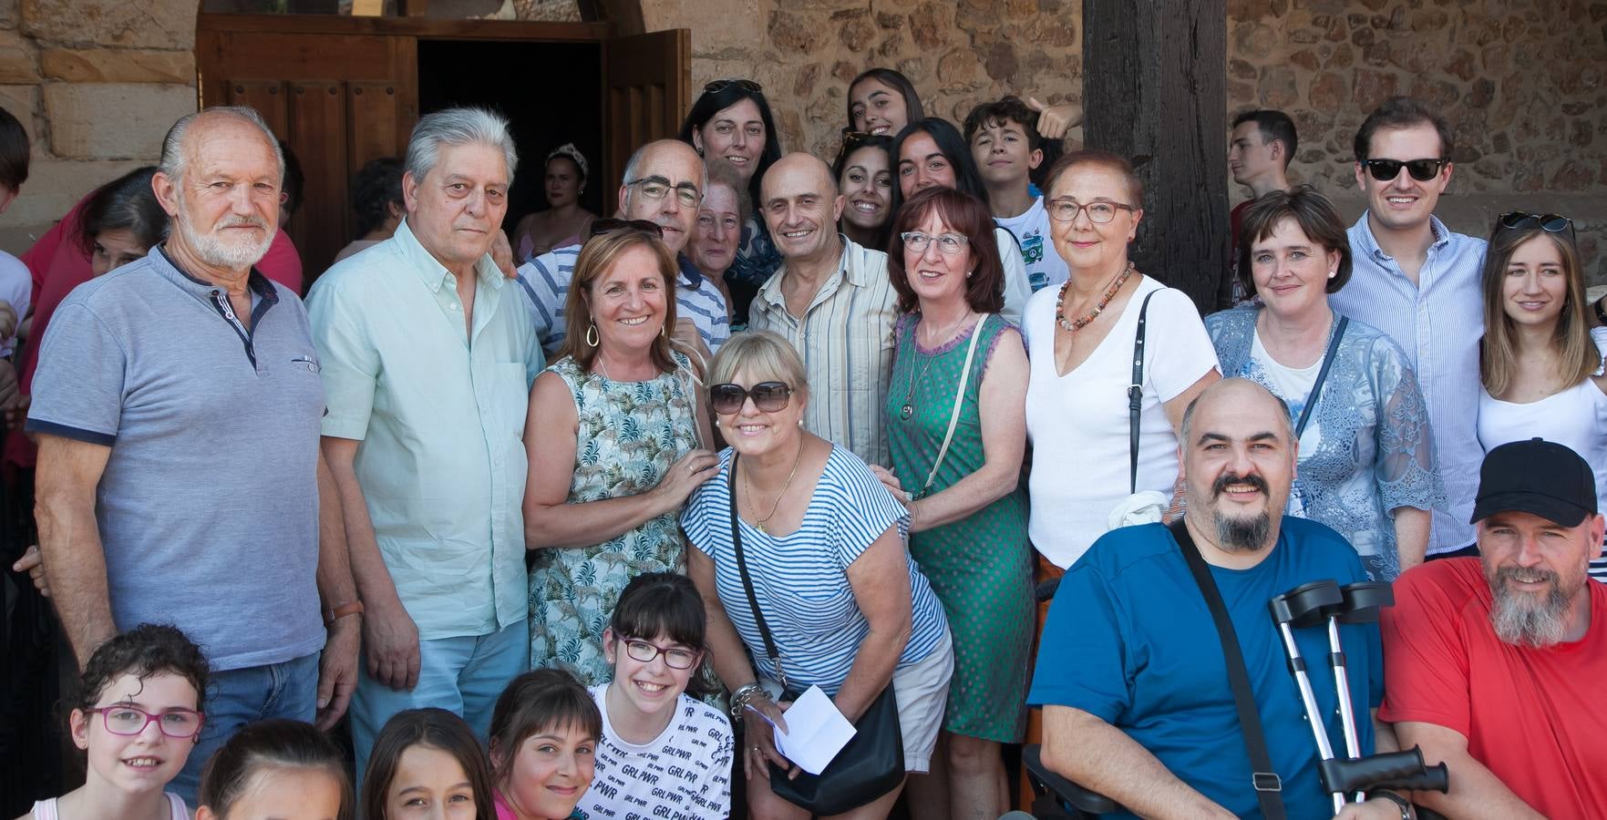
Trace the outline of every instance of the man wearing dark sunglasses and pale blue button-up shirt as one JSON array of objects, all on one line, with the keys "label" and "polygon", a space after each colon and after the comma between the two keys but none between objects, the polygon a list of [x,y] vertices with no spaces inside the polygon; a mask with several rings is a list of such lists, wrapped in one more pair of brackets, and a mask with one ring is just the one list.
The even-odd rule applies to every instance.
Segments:
[{"label": "man wearing dark sunglasses and pale blue button-up shirt", "polygon": [[1368,212],[1350,228],[1350,281],[1329,302],[1395,339],[1417,373],[1445,481],[1429,558],[1477,555],[1467,521],[1483,452],[1477,421],[1485,241],[1451,233],[1433,215],[1451,183],[1451,129],[1422,103],[1395,96],[1361,124],[1355,150]]}]

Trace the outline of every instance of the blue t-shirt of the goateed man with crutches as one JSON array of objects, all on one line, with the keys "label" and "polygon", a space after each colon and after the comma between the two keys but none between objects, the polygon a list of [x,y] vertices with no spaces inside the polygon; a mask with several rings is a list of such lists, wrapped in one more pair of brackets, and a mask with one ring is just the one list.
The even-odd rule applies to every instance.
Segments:
[{"label": "blue t-shirt of the goateed man with crutches", "polygon": [[[1286,516],[1278,545],[1260,564],[1210,569],[1239,635],[1289,817],[1332,817],[1300,690],[1266,603],[1310,580],[1366,580],[1361,561],[1332,529]],[[1379,627],[1343,625],[1340,640],[1361,752],[1371,754],[1369,707],[1384,699]],[[1295,643],[1318,707],[1327,715],[1329,740],[1343,756],[1327,630],[1297,629]],[[1261,817],[1216,625],[1176,540],[1160,524],[1107,532],[1065,572],[1049,606],[1027,703],[1101,717],[1234,815]]]}]

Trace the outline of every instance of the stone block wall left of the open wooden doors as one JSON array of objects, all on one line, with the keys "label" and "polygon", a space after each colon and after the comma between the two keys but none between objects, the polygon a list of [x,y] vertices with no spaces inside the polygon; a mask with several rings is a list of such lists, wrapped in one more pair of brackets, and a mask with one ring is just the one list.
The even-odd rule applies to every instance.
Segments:
[{"label": "stone block wall left of the open wooden doors", "polygon": [[156,162],[194,111],[196,0],[0,0],[0,106],[32,161],[0,217],[19,252],[96,185]]}]

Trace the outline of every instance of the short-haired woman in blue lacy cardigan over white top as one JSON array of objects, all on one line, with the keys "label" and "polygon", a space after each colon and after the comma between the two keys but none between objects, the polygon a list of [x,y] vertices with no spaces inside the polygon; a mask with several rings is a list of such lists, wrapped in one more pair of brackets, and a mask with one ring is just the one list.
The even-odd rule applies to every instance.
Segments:
[{"label": "short-haired woman in blue lacy cardigan over white top", "polygon": [[1329,305],[1350,280],[1345,223],[1310,185],[1271,191],[1244,212],[1236,252],[1260,304],[1212,314],[1205,331],[1223,373],[1289,407],[1300,469],[1286,511],[1334,527],[1368,577],[1395,580],[1422,563],[1443,489],[1411,360]]}]

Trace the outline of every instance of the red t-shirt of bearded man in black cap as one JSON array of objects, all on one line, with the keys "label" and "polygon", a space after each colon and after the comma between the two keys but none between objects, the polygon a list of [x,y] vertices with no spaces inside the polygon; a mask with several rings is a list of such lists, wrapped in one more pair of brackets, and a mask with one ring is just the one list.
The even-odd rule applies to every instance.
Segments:
[{"label": "red t-shirt of bearded man in black cap", "polygon": [[1546,817],[1607,817],[1607,584],[1585,584],[1585,638],[1535,650],[1496,637],[1478,558],[1401,574],[1384,609],[1379,717],[1461,732],[1474,759]]}]

